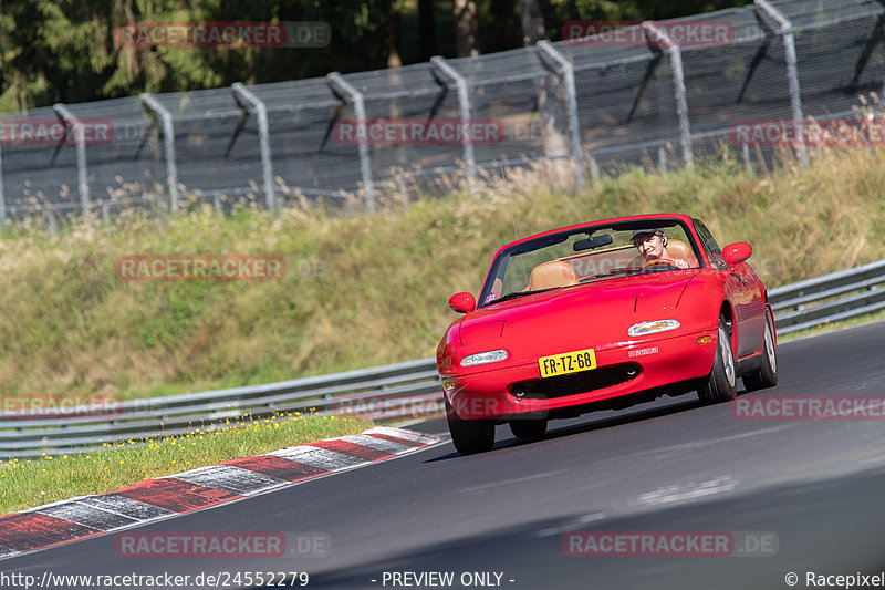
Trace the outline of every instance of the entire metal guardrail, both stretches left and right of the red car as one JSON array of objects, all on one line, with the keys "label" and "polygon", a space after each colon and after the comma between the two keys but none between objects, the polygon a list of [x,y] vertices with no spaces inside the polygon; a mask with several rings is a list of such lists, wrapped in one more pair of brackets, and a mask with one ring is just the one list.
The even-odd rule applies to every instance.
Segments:
[{"label": "entire metal guardrail, both stretches left and right of the red car", "polygon": [[[885,260],[771,289],[778,333],[885,309],[883,283]],[[43,417],[0,420],[0,458],[33,458],[60,449],[88,452],[103,443],[183,435],[218,428],[243,415],[253,420],[278,412],[369,420],[439,415],[440,393],[436,360],[430,358],[264,385],[77,406]]]}]

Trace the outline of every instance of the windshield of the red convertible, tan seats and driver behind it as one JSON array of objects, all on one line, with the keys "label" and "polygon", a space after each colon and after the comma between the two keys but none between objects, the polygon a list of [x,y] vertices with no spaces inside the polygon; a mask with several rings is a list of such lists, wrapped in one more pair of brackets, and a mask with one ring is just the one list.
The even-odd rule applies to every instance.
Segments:
[{"label": "windshield of the red convertible, tan seats and driver behind it", "polygon": [[[659,231],[655,231],[659,230]],[[633,242],[634,231],[644,246]],[[671,219],[586,227],[517,244],[502,251],[480,293],[480,306],[550,289],[641,272],[697,268],[699,257],[685,227]]]}]

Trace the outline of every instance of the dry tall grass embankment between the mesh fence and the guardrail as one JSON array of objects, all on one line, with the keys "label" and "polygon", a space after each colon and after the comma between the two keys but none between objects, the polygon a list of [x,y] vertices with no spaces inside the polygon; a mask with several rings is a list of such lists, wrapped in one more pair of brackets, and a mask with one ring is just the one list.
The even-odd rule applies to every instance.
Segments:
[{"label": "dry tall grass embankment between the mesh fence and the guardrail", "polygon": [[[885,257],[882,151],[812,151],[802,168],[748,177],[719,161],[628,172],[579,195],[549,170],[483,178],[479,195],[335,217],[293,207],[76,221],[0,239],[0,392],[144,396],[371,366],[434,353],[514,236],[639,213],[700,217],[720,245],[753,245],[769,287]],[[394,199],[397,200],[397,199]],[[128,282],[126,255],[282,255],[283,280]]]}]

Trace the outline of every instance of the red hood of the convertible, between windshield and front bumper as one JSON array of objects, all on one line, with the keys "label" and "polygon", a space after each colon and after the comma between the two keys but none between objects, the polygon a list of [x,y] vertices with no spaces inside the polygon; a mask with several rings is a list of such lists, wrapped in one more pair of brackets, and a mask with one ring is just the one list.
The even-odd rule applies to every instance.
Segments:
[{"label": "red hood of the convertible, between windshield and front bumper", "polygon": [[533,362],[539,346],[554,354],[620,345],[633,340],[627,335],[632,324],[665,319],[667,309],[675,312],[698,272],[616,278],[493,303],[461,319],[461,345],[487,350],[500,342],[514,362]]}]

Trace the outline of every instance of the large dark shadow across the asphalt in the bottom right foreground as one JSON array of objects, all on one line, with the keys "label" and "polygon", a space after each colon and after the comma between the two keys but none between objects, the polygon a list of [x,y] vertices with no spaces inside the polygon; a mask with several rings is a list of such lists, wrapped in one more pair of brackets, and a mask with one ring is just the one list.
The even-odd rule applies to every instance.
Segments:
[{"label": "large dark shadow across the asphalt in the bottom right foreground", "polygon": [[[490,530],[485,535],[433,542],[383,562],[346,571],[311,575],[310,587],[324,590],[372,590],[384,572],[454,572],[445,588],[467,588],[458,577],[468,572],[501,573],[501,588],[512,590],[716,588],[747,590],[787,588],[784,577],[795,572],[796,588],[806,588],[809,571],[816,575],[877,573],[885,566],[885,529],[875,526],[885,513],[881,490],[885,473],[802,485],[785,485],[751,494],[660,507],[641,515],[605,519],[597,527],[580,522],[585,515],[537,520],[525,526]],[[540,501],[540,500],[539,500]],[[452,515],[457,518],[457,515]],[[585,531],[728,531],[736,553],[728,557],[570,556],[566,535]],[[774,539],[762,555],[739,555],[743,531]],[[741,551],[742,552],[742,551]],[[492,578],[493,579],[493,578]],[[373,581],[374,580],[374,581]],[[513,580],[512,582],[510,580]],[[398,588],[399,586],[397,586]],[[424,588],[421,586],[420,588]]]}]

